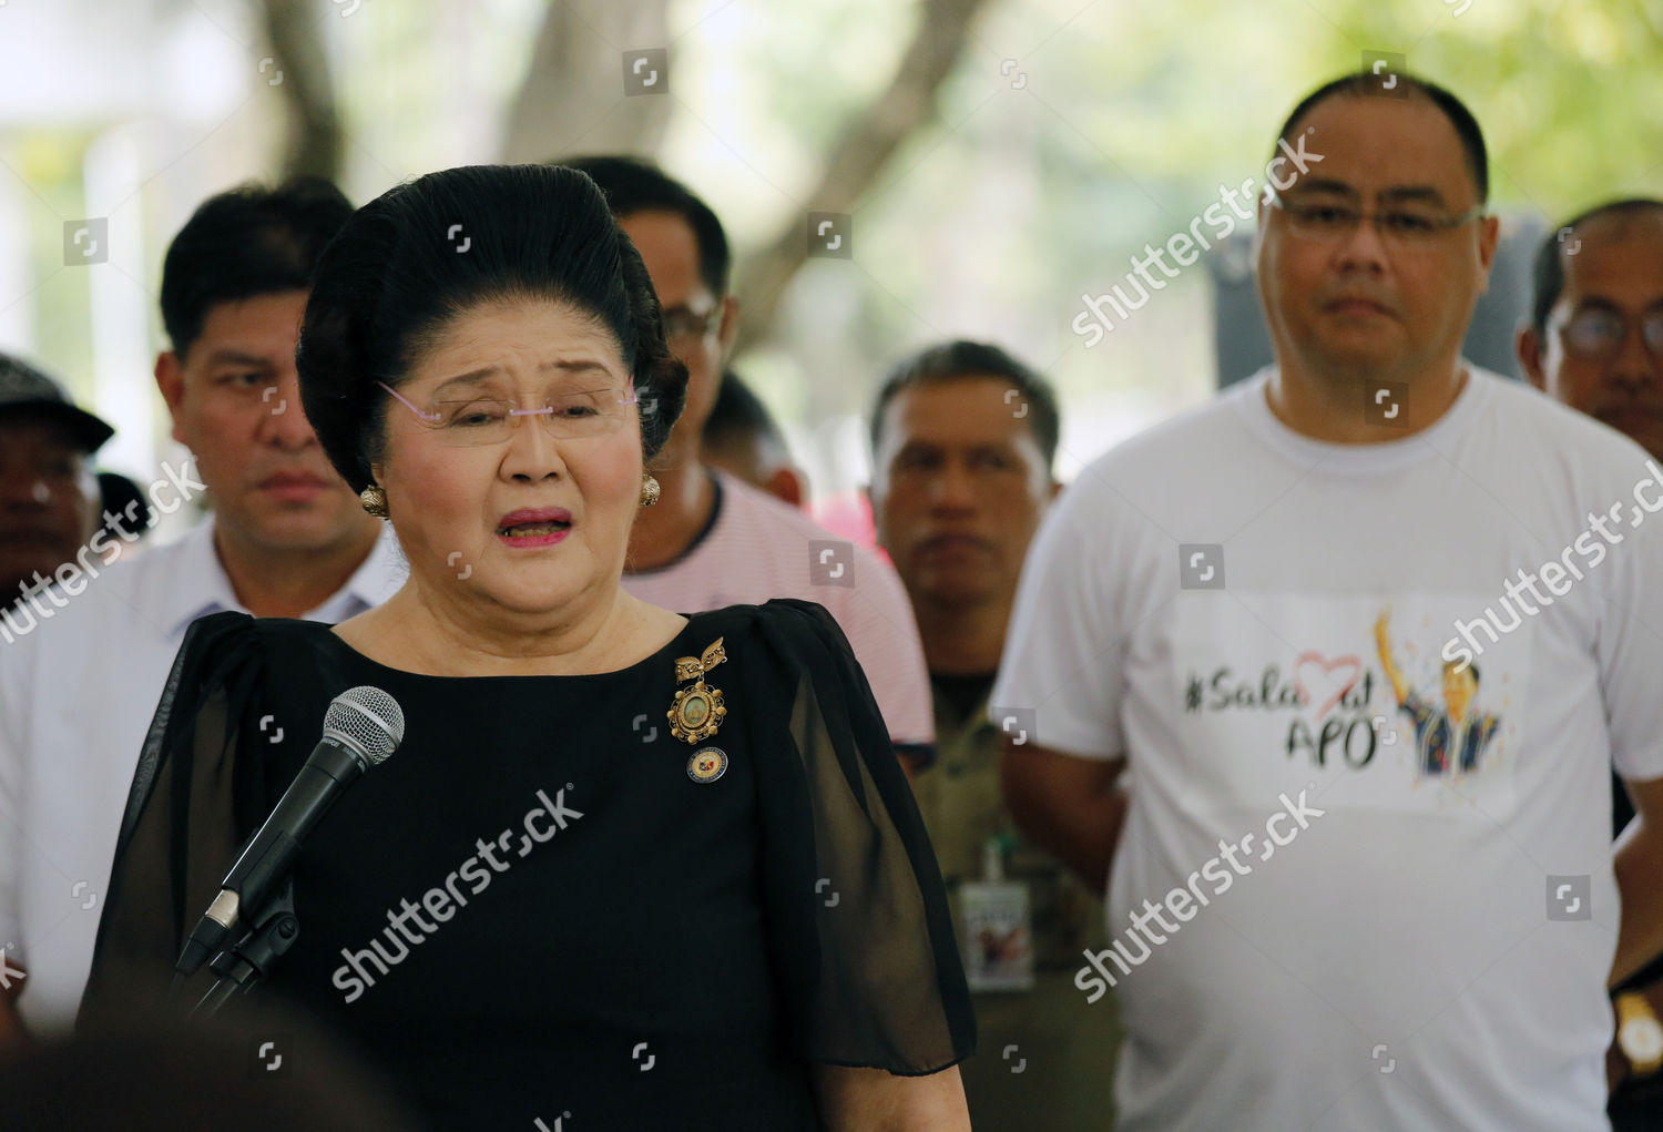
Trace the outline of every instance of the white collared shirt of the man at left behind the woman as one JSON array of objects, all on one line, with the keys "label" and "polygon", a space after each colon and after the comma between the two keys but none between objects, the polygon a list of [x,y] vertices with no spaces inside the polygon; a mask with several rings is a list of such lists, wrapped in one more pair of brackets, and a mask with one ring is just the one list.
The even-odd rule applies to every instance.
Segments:
[{"label": "white collared shirt of the man at left behind the woman", "polygon": [[[343,622],[406,573],[387,527],[304,617]],[[73,595],[37,595],[50,618],[22,603],[5,622],[12,640],[0,635],[0,947],[28,971],[17,1006],[35,1031],[75,1021],[128,786],[185,630],[243,610],[211,519],[83,580]]]}]

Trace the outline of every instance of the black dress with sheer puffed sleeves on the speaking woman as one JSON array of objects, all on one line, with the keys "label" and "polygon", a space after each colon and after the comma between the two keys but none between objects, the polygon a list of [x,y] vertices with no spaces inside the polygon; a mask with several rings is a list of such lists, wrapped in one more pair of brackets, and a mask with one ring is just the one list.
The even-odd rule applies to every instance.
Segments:
[{"label": "black dress with sheer puffed sleeves on the speaking woman", "polygon": [[[727,715],[688,743],[677,660],[718,638],[703,680]],[[579,677],[424,677],[314,622],[196,622],[83,1026],[135,994],[163,1009],[185,934],[354,685],[399,701],[404,743],[303,846],[299,939],[249,997],[346,1037],[432,1129],[815,1129],[815,1062],[926,1074],[971,1052],[911,791],[841,630],[795,600],[695,613]]]}]

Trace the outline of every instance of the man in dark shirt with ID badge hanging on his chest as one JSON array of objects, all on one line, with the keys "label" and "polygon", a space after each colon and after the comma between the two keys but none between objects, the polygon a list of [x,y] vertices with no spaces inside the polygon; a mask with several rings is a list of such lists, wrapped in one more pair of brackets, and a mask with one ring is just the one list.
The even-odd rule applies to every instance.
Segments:
[{"label": "man in dark shirt with ID badge hanging on his chest", "polygon": [[988,720],[1023,557],[1059,489],[1056,442],[1049,386],[980,342],[901,362],[871,417],[878,542],[911,598],[935,700],[936,765],[913,791],[980,991],[978,1052],[961,1066],[970,1114],[976,1127],[1073,1132],[1113,1122],[1119,1021],[1071,982],[1103,914],[1016,834]]}]

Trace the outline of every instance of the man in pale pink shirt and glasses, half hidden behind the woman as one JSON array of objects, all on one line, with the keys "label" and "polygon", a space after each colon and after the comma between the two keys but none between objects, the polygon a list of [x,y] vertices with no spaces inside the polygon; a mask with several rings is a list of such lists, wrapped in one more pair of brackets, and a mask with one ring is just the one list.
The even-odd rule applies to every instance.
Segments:
[{"label": "man in pale pink shirt and glasses, half hidden behind the woman", "polygon": [[687,407],[649,469],[660,497],[630,532],[624,588],[697,613],[795,597],[823,605],[848,637],[908,768],[931,758],[930,675],[906,590],[865,547],[700,459],[700,437],[738,329],[728,244],[710,206],[637,158],[564,161],[605,193],[640,251],[670,349],[687,366]]}]

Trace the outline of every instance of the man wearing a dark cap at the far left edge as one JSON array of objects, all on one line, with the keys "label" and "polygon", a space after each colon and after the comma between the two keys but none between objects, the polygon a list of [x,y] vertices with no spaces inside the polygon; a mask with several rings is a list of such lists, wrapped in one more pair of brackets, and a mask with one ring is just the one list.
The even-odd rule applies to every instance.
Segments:
[{"label": "man wearing a dark cap at the far left edge", "polygon": [[[86,457],[115,434],[33,366],[0,354],[0,625],[98,530],[98,480]],[[113,557],[113,555],[111,555]],[[5,637],[0,637],[5,640]]]}]

